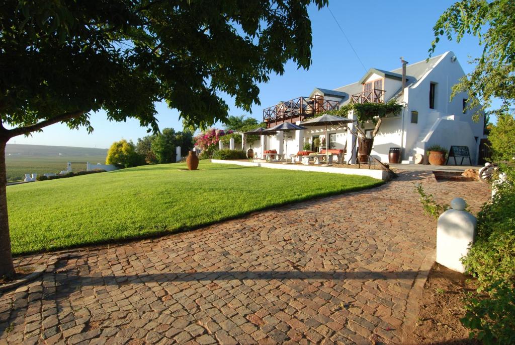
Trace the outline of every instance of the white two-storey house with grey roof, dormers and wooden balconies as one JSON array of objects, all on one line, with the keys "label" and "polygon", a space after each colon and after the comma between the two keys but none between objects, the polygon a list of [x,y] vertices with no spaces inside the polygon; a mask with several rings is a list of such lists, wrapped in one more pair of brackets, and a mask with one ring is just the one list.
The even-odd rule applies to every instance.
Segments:
[{"label": "white two-storey house with grey roof, dormers and wooden balconies", "polygon": [[[279,102],[263,109],[263,121],[268,127],[282,122],[302,125],[307,118],[349,102],[382,103],[394,99],[403,105],[403,110],[397,116],[383,119],[374,139],[373,157],[388,162],[390,147],[400,147],[402,162],[413,163],[416,154],[424,154],[433,144],[448,150],[451,145],[459,145],[469,147],[472,163],[477,164],[480,143],[486,138],[484,116],[478,122],[473,121],[474,109],[465,109],[468,98],[466,93],[450,99],[452,86],[464,75],[452,52],[432,57],[428,61],[404,63],[403,67],[393,71],[372,68],[356,83],[334,90],[315,88],[308,97]],[[353,114],[349,114],[349,117],[355,119]],[[373,127],[370,123],[363,129],[369,135]],[[323,139],[324,129],[310,127],[292,132],[287,141],[288,154],[301,151],[307,142],[312,150],[316,150],[316,138]],[[347,149],[346,159],[350,160],[352,150],[349,148],[355,147],[355,138],[348,135],[347,129],[329,128],[328,136],[330,148]],[[255,142],[252,146],[258,155],[262,153],[260,151],[263,147],[283,153],[283,135],[265,136],[261,143]]]}]

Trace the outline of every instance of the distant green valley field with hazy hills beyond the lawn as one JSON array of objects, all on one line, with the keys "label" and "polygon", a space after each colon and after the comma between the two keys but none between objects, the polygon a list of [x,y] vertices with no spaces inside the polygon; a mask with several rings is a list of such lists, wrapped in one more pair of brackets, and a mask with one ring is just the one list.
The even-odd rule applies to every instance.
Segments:
[{"label": "distant green valley field with hazy hills beyond the lawn", "polygon": [[[90,147],[7,144],[7,181],[25,178],[27,173],[58,173],[67,162],[105,163],[107,149]],[[73,171],[85,170],[85,164],[72,164]]]}]

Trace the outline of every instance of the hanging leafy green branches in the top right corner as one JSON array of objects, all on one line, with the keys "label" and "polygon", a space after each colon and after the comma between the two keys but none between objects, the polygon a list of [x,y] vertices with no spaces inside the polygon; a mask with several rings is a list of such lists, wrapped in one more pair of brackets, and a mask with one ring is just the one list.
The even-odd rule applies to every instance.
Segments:
[{"label": "hanging leafy green branches in the top right corner", "polygon": [[[492,100],[500,98],[496,115],[513,108],[515,103],[515,2],[512,0],[461,0],[447,9],[433,27],[435,40],[430,56],[441,37],[460,42],[466,35],[478,38],[483,54],[473,59],[474,70],[453,86],[451,96],[460,92],[473,95],[469,109],[491,108]],[[475,113],[475,119],[482,114]]]}]

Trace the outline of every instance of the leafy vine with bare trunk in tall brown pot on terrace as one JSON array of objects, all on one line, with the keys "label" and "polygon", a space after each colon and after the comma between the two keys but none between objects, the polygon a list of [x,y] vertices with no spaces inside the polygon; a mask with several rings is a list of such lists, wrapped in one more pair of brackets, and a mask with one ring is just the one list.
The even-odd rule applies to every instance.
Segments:
[{"label": "leafy vine with bare trunk in tall brown pot on terrace", "polygon": [[[372,151],[374,138],[379,132],[383,118],[389,114],[398,115],[402,111],[402,105],[397,104],[395,100],[388,101],[387,103],[349,103],[337,110],[331,110],[327,113],[347,118],[351,111],[354,112],[358,123],[357,126],[354,126],[353,133],[358,141],[358,154],[360,160],[364,162],[368,160],[368,156]],[[372,123],[374,125],[371,138],[367,138],[362,129],[366,123]]]}]

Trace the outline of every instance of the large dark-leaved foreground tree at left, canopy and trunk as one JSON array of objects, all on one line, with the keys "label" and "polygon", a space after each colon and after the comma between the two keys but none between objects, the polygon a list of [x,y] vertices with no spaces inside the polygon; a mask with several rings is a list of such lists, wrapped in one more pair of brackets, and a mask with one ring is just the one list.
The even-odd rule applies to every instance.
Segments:
[{"label": "large dark-leaved foreground tree at left, canopy and trunk", "polygon": [[157,131],[155,102],[187,125],[250,111],[258,83],[311,64],[307,7],[327,0],[7,0],[0,8],[0,276],[14,273],[5,144],[54,123],[93,130],[91,112]]}]

